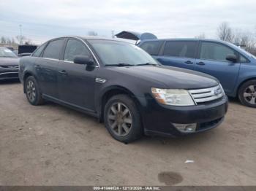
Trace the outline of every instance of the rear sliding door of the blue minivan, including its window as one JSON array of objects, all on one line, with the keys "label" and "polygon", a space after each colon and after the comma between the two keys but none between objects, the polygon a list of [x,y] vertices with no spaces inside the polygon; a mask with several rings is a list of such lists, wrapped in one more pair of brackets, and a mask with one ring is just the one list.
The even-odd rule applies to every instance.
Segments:
[{"label": "rear sliding door of the blue minivan, including its window", "polygon": [[167,66],[195,69],[197,44],[197,41],[167,41],[157,61]]}]

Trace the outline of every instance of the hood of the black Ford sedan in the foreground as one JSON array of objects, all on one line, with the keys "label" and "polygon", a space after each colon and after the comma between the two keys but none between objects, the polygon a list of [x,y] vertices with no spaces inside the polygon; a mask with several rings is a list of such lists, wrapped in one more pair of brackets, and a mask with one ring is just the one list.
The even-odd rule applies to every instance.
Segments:
[{"label": "hood of the black Ford sedan in the foreground", "polygon": [[167,88],[173,89],[200,89],[213,87],[219,84],[218,80],[208,74],[197,71],[180,69],[171,66],[131,66],[114,67],[116,71],[129,74],[132,77],[160,82]]}]

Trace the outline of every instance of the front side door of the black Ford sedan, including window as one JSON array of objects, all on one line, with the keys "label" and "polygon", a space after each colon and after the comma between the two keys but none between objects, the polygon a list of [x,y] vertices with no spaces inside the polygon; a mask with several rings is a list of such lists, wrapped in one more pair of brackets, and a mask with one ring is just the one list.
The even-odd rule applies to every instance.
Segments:
[{"label": "front side door of the black Ford sedan, including window", "polygon": [[98,66],[88,67],[74,63],[77,55],[91,57],[85,42],[69,38],[59,63],[58,90],[61,101],[94,111],[94,85]]}]

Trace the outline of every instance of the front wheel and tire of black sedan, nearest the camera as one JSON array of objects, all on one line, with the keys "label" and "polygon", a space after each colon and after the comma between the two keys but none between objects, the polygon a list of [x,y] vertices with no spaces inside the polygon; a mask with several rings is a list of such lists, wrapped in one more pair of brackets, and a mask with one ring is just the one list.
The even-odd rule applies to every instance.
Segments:
[{"label": "front wheel and tire of black sedan, nearest the camera", "polygon": [[129,143],[143,135],[140,112],[128,95],[115,95],[104,109],[105,127],[114,139]]}]

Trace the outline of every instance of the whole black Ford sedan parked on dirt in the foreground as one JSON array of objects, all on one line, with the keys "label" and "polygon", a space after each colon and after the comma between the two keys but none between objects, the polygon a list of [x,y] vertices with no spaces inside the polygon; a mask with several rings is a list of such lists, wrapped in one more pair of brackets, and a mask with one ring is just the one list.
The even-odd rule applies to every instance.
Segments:
[{"label": "whole black Ford sedan parked on dirt in the foreground", "polygon": [[227,112],[214,77],[162,66],[140,47],[114,39],[52,39],[20,58],[19,77],[30,104],[48,100],[91,114],[123,142],[215,128]]}]

